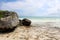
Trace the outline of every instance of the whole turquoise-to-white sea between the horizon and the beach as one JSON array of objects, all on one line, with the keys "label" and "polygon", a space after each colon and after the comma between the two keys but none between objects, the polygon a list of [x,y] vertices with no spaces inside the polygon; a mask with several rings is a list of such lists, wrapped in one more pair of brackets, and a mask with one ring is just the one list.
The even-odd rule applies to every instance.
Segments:
[{"label": "whole turquoise-to-white sea between the horizon and the beach", "polygon": [[32,22],[60,22],[60,17],[19,17],[21,20],[23,18],[30,19]]}]

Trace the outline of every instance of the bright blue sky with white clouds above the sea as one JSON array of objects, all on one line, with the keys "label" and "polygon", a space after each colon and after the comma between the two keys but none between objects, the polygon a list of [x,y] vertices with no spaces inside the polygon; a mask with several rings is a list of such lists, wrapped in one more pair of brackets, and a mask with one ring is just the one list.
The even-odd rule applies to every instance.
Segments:
[{"label": "bright blue sky with white clouds above the sea", "polygon": [[19,16],[60,17],[60,0],[0,0],[0,10]]}]

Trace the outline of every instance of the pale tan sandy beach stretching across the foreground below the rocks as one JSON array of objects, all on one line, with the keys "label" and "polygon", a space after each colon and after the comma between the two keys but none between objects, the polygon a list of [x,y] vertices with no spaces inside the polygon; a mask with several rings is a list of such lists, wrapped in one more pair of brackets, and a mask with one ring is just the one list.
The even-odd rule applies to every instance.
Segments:
[{"label": "pale tan sandy beach stretching across the foreground below the rocks", "polygon": [[0,40],[60,40],[59,23],[32,23],[19,26],[14,32],[0,34]]}]

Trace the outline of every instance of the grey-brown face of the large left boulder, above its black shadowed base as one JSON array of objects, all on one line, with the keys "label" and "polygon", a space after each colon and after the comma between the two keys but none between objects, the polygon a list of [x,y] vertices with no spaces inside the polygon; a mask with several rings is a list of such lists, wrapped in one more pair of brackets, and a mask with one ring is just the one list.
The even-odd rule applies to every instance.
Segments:
[{"label": "grey-brown face of the large left boulder, above its black shadowed base", "polygon": [[0,28],[8,29],[14,28],[19,24],[18,15],[15,12],[4,12],[1,13],[4,17],[0,18]]}]

